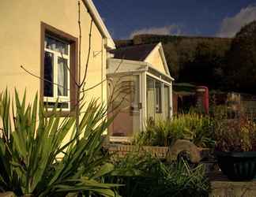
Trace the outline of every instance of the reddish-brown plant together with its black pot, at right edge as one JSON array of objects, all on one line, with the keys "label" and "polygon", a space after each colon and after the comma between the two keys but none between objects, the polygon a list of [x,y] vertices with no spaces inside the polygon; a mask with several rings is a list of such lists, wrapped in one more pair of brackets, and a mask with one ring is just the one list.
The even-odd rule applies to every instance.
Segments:
[{"label": "reddish-brown plant together with its black pot, at right edge", "polygon": [[252,180],[256,174],[256,125],[240,115],[216,121],[215,153],[221,171],[230,180]]}]

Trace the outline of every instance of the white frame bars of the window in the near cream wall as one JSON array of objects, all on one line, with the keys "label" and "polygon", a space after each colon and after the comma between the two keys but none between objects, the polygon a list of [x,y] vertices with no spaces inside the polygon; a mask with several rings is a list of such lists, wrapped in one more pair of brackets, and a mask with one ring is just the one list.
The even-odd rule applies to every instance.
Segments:
[{"label": "white frame bars of the window in the near cream wall", "polygon": [[[45,44],[43,43],[44,44],[43,54],[45,52],[49,52],[49,53],[53,54],[53,60],[54,60],[54,64],[53,64],[53,72],[54,72],[53,73],[53,78],[54,78],[53,97],[43,96],[43,102],[57,102],[57,100],[58,100],[58,103],[67,102],[68,103],[67,108],[59,107],[58,109],[62,109],[63,111],[69,111],[70,110],[70,43],[67,43],[64,40],[58,39],[52,35],[46,34],[45,38],[46,37],[50,37],[51,39],[56,39],[62,43],[66,43],[68,45],[68,53],[63,54],[58,51],[48,49],[45,46]],[[68,67],[68,69],[67,69],[67,96],[58,95],[58,85],[57,85],[58,84],[58,58],[64,58],[67,61],[67,65],[66,65]],[[51,108],[50,108],[50,110],[51,110]]]}]

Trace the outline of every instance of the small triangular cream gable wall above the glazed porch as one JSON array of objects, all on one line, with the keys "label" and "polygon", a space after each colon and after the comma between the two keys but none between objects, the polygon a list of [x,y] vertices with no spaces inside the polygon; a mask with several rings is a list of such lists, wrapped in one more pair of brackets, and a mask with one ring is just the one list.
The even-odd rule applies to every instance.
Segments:
[{"label": "small triangular cream gable wall above the glazed porch", "polygon": [[152,53],[149,54],[145,62],[148,62],[149,64],[151,64],[154,69],[157,69],[160,72],[163,72],[164,74],[168,75],[168,73],[164,69],[164,62],[161,58],[160,50],[158,49],[158,47],[155,50],[152,50]]}]

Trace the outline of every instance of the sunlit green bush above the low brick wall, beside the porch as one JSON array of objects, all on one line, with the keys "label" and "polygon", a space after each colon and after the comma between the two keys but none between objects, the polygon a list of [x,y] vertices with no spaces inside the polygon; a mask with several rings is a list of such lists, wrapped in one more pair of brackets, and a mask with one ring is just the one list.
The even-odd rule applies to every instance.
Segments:
[{"label": "sunlit green bush above the low brick wall, beside the porch", "polygon": [[171,146],[176,139],[189,139],[198,147],[213,147],[213,121],[197,113],[180,114],[167,121],[148,121],[145,131],[134,136],[134,143]]}]

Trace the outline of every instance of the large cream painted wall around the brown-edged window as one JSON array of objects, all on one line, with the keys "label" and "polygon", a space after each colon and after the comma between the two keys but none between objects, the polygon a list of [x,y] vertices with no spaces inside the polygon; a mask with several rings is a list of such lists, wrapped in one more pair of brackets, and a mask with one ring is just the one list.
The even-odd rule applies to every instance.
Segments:
[{"label": "large cream painted wall around the brown-edged window", "polygon": [[[6,87],[9,91],[13,91],[14,87],[17,87],[22,94],[26,88],[28,100],[32,101],[36,91],[40,91],[40,80],[28,75],[20,65],[36,76],[40,76],[40,22],[78,38],[77,10],[76,0],[0,1],[0,91]],[[91,17],[81,2],[81,71],[83,72],[88,54],[90,20]],[[104,39],[93,24],[92,50],[86,87],[92,87],[105,79],[106,55]],[[106,91],[106,83],[104,83],[88,91],[87,99],[96,97],[106,102]]]}]

